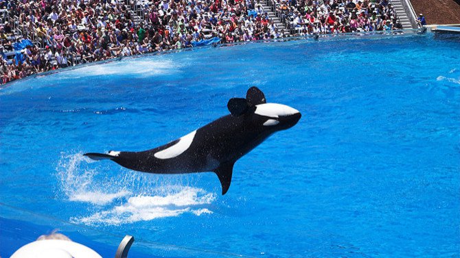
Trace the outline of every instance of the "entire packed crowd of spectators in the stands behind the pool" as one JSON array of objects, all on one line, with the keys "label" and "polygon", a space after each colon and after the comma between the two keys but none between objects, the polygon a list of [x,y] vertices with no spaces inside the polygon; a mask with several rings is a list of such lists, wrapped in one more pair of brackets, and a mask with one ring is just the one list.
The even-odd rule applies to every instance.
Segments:
[{"label": "entire packed crowd of spectators in the stands behind the pool", "polygon": [[[260,3],[265,0],[126,1],[131,2],[0,0],[0,84],[76,64],[209,42],[399,26],[388,0],[268,0],[292,31],[278,29]],[[131,10],[139,6],[136,18]]]}]

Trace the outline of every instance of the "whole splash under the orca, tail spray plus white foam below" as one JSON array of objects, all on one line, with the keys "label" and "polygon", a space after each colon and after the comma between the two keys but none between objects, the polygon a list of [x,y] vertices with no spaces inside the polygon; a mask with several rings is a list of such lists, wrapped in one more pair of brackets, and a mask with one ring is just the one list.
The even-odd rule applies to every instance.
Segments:
[{"label": "whole splash under the orca, tail spray plus white foam below", "polygon": [[76,153],[62,155],[58,165],[60,190],[65,198],[90,204],[87,212],[90,215],[72,217],[72,222],[113,225],[185,213],[196,216],[212,214],[209,205],[216,200],[214,193],[177,183],[153,182],[146,186],[137,173],[101,178],[104,168],[91,168],[95,164],[103,163],[92,162],[82,153]]}]

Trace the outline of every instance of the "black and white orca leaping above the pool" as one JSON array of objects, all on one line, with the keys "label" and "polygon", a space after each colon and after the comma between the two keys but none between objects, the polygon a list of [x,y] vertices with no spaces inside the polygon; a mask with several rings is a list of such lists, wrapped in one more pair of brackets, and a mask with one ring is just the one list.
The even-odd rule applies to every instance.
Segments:
[{"label": "black and white orca leaping above the pool", "polygon": [[276,131],[293,127],[301,114],[297,109],[266,103],[264,93],[252,87],[246,99],[233,98],[231,114],[192,131],[177,140],[148,151],[86,153],[91,159],[111,159],[117,164],[156,174],[215,172],[222,195],[229,190],[233,165]]}]

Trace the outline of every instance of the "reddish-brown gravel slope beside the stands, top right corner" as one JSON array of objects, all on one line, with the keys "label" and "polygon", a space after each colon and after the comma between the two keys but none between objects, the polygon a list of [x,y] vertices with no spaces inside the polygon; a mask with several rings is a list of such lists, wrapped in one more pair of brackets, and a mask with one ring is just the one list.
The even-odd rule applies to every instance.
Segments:
[{"label": "reddish-brown gravel slope beside the stands, top right corner", "polygon": [[459,24],[460,0],[411,0],[415,12],[429,24]]}]

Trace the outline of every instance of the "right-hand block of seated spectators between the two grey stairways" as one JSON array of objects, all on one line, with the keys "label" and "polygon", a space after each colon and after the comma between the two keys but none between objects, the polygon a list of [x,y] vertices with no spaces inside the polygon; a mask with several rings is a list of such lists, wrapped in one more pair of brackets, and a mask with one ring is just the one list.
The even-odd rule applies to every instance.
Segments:
[{"label": "right-hand block of seated spectators between the two grey stairways", "polygon": [[388,0],[270,1],[300,35],[402,29]]}]

